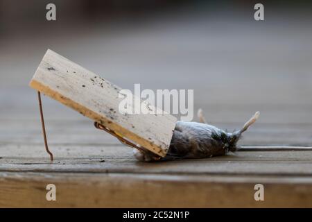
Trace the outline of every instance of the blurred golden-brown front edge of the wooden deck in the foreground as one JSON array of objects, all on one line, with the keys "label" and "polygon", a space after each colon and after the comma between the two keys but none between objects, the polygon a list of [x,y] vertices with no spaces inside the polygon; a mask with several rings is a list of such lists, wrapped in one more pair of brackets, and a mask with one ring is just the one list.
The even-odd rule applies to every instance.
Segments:
[{"label": "blurred golden-brown front edge of the wooden deck in the foreground", "polygon": [[[0,207],[312,207],[311,178],[0,173]],[[46,185],[56,201],[46,200]],[[265,200],[254,200],[254,185]]]}]

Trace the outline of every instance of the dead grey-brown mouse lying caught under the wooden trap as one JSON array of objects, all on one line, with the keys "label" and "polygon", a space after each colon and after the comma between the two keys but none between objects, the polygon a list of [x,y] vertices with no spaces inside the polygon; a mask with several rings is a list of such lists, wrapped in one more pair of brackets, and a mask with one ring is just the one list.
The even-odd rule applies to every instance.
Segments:
[{"label": "dead grey-brown mouse lying caught under the wooden trap", "polygon": [[177,121],[171,144],[165,157],[159,157],[148,150],[134,150],[139,161],[151,162],[159,160],[198,159],[225,155],[229,151],[236,151],[236,144],[241,135],[254,123],[259,112],[248,120],[241,130],[227,133],[216,126],[206,123],[202,110],[198,110],[200,123]]}]

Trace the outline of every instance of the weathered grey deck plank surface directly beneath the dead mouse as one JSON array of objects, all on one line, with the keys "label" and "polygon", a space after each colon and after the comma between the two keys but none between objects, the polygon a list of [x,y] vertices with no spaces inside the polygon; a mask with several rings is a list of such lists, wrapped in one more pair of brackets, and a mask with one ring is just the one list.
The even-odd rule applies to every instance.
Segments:
[{"label": "weathered grey deck plank surface directly beneath the dead mouse", "polygon": [[225,157],[155,163],[137,162],[131,153],[123,152],[121,149],[110,155],[107,149],[105,155],[55,158],[53,163],[47,158],[3,157],[0,171],[312,176],[312,151],[244,151]]}]

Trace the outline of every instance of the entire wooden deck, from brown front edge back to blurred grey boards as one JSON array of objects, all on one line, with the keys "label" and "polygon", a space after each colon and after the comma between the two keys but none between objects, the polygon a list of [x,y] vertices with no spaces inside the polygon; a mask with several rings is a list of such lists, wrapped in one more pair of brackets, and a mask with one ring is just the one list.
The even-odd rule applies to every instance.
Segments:
[{"label": "entire wooden deck, from brown front edge back to blurred grey boards", "polygon": [[[43,96],[51,163],[37,94],[27,86],[49,47],[124,88],[194,89],[195,110],[220,128],[239,128],[259,110],[241,145],[311,146],[312,31],[302,21],[281,29],[278,19],[216,25],[196,15],[116,32],[3,37],[0,207],[312,207],[311,150],[141,163],[92,121]],[[57,201],[46,201],[49,183]],[[264,201],[254,200],[257,183]]]}]

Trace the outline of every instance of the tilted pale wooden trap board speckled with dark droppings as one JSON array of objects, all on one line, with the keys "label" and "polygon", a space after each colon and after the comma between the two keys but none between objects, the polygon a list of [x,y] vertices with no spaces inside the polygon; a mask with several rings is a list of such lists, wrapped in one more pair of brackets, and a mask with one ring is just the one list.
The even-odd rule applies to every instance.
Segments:
[{"label": "tilted pale wooden trap board speckled with dark droppings", "polygon": [[[177,119],[119,112],[120,87],[48,49],[30,86],[164,157]],[[150,105],[149,108],[154,108]]]}]

